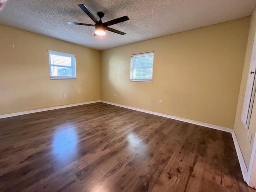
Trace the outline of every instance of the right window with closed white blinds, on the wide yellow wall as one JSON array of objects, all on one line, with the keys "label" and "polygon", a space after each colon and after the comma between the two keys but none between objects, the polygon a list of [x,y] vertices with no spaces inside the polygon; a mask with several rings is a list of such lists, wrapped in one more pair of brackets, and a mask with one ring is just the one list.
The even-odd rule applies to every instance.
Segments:
[{"label": "right window with closed white blinds, on the wide yellow wall", "polygon": [[131,81],[152,82],[154,52],[131,56]]}]

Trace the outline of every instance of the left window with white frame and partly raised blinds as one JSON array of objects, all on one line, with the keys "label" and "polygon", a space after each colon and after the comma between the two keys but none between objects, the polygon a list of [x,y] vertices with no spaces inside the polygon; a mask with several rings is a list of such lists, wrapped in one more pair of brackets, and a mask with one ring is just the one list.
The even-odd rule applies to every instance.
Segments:
[{"label": "left window with white frame and partly raised blinds", "polygon": [[48,50],[51,79],[76,79],[76,56]]}]

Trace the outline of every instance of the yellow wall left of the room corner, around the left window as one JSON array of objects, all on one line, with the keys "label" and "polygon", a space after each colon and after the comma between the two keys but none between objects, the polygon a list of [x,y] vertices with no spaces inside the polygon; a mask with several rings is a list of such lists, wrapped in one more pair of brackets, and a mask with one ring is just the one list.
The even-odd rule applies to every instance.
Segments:
[{"label": "yellow wall left of the room corner, around the left window", "polygon": [[[99,51],[3,25],[0,34],[0,114],[100,99]],[[76,80],[50,80],[48,50],[76,55]]]}]

